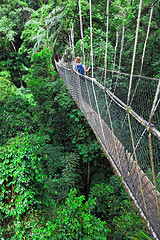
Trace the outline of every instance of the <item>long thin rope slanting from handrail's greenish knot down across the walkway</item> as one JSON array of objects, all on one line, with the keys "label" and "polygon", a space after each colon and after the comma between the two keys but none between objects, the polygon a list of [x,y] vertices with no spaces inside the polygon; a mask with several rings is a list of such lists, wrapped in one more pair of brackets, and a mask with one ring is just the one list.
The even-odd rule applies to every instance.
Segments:
[{"label": "long thin rope slanting from handrail's greenish knot down across the walkway", "polygon": [[[132,140],[133,153],[134,153],[136,165],[138,166],[138,160],[137,160],[137,154],[136,154],[136,150],[135,150],[135,143],[134,143],[134,137],[133,137],[133,132],[132,132],[130,115],[129,115],[129,113],[127,113],[127,115],[128,115],[129,130],[130,130],[131,140]],[[143,188],[142,188],[142,181],[141,181],[141,176],[140,176],[140,170],[139,170],[139,168],[138,168],[138,178],[139,178],[140,191],[141,191],[141,193],[142,193],[142,198],[143,198],[144,207],[145,207],[146,214],[147,214],[147,217],[148,217],[148,210],[147,210],[146,201],[145,201],[145,198],[144,198],[144,192],[143,192]]]}]

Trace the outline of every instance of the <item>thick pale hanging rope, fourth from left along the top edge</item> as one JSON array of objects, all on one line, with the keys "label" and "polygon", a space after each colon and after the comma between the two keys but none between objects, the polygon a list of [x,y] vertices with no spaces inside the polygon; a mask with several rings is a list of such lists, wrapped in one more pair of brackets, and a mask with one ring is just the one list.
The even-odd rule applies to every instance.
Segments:
[{"label": "thick pale hanging rope, fourth from left along the top edge", "polygon": [[141,8],[142,8],[142,0],[140,0],[140,3],[139,3],[136,36],[135,36],[135,42],[134,42],[134,51],[133,51],[133,59],[132,59],[132,67],[131,67],[131,76],[130,76],[130,83],[129,83],[129,90],[128,90],[128,98],[127,98],[127,106],[129,106],[129,102],[130,102],[130,95],[131,95],[131,88],[132,88],[132,79],[133,79],[133,71],[134,71],[135,56],[136,56],[136,49],[137,49],[137,42],[138,42],[138,32],[139,32]]}]

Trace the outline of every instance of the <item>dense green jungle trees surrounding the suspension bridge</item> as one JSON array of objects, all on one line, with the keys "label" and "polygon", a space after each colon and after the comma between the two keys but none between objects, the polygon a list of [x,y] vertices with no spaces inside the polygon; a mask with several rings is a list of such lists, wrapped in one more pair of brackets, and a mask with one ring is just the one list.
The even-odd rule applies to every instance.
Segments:
[{"label": "dense green jungle trees surrounding the suspension bridge", "polygon": [[[153,2],[143,75],[158,78],[159,1],[142,4],[137,54],[142,52]],[[92,0],[93,54],[101,67],[106,4]],[[151,239],[55,68],[55,52],[60,59],[69,47],[72,24],[75,53],[82,55],[78,5],[78,0],[0,1],[1,240]],[[113,64],[116,30],[127,25],[125,72],[130,72],[133,48],[127,42],[134,42],[138,6],[138,0],[110,1],[108,66]],[[81,7],[87,56],[89,1],[81,0]]]}]

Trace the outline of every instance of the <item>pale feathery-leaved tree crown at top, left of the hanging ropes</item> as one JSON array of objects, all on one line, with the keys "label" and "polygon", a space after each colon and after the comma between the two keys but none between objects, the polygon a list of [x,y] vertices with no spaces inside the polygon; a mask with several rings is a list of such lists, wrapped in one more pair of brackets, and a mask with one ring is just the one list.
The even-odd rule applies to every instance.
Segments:
[{"label": "pale feathery-leaved tree crown at top, left of the hanging ropes", "polygon": [[[63,8],[53,9],[52,5],[43,5],[38,9],[25,24],[22,32],[24,42],[20,52],[31,54],[45,48],[49,48],[53,52],[57,35],[62,27],[60,21],[63,17]],[[28,49],[27,42],[32,42],[30,45],[32,49]]]}]

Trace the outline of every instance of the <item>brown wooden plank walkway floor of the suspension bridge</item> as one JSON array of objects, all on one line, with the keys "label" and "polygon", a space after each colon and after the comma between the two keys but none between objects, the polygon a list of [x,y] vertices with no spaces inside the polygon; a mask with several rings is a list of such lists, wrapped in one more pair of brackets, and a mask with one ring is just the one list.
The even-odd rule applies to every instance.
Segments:
[{"label": "brown wooden plank walkway floor of the suspension bridge", "polygon": [[155,187],[152,182],[135,163],[133,157],[131,157],[131,155],[125,151],[120,141],[108,128],[106,123],[101,119],[102,129],[98,114],[90,107],[88,103],[84,101],[82,106],[83,107],[81,107],[81,110],[93,129],[95,135],[101,141],[105,149],[107,149],[109,156],[136,199],[140,209],[149,221],[151,227],[154,229],[157,237],[160,239],[160,218],[156,203],[157,194],[160,206],[160,194],[155,191]]}]

